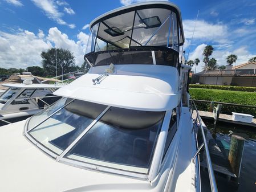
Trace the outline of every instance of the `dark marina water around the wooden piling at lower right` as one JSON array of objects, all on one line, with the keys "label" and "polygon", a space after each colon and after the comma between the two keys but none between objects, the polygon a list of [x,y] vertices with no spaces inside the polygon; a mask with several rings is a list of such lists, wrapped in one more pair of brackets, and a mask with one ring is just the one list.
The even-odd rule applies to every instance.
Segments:
[{"label": "dark marina water around the wooden piling at lower right", "polygon": [[[253,127],[238,126],[234,124],[218,123],[214,129],[212,121],[205,121],[206,126],[221,145],[220,148],[226,156],[229,154],[231,135],[237,134],[245,138],[245,148],[243,151],[241,173],[238,183],[228,182],[224,175],[216,174],[216,181],[219,192],[254,192],[256,191],[256,130]],[[203,181],[202,191],[210,191],[208,171],[201,170]],[[205,184],[205,185],[204,185]]]}]

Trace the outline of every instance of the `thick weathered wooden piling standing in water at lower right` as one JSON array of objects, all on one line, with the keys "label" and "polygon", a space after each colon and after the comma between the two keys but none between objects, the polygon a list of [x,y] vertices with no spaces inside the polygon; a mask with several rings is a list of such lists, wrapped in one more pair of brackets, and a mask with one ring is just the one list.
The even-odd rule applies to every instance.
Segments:
[{"label": "thick weathered wooden piling standing in water at lower right", "polygon": [[229,150],[229,164],[237,178],[239,178],[240,175],[244,146],[245,138],[232,134]]}]

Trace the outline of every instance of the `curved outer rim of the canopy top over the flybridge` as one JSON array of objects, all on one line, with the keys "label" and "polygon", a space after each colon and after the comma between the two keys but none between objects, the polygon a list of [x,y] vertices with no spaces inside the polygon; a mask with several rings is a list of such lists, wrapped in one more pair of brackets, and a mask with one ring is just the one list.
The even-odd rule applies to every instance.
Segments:
[{"label": "curved outer rim of the canopy top over the flybridge", "polygon": [[92,28],[92,26],[94,26],[94,24],[96,24],[100,21],[103,21],[107,18],[115,17],[116,15],[128,13],[130,11],[139,10],[139,9],[147,9],[147,8],[164,8],[164,9],[169,9],[169,10],[176,12],[177,19],[180,22],[183,39],[185,39],[180,9],[178,8],[177,5],[170,3],[168,1],[149,1],[149,2],[133,3],[131,5],[119,7],[117,9],[108,11],[107,13],[104,13],[104,14],[100,15],[99,17],[95,18],[90,23],[90,29]]}]

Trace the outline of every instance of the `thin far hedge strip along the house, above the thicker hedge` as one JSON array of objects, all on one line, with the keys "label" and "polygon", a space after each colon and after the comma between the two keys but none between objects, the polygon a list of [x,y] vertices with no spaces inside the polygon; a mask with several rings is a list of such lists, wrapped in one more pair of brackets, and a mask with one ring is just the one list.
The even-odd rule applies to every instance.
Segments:
[{"label": "thin far hedge strip along the house, above the thicker hedge", "polygon": [[256,87],[238,87],[238,86],[227,86],[227,85],[197,85],[190,84],[191,88],[204,88],[204,89],[220,89],[228,91],[246,91],[246,92],[256,92]]}]

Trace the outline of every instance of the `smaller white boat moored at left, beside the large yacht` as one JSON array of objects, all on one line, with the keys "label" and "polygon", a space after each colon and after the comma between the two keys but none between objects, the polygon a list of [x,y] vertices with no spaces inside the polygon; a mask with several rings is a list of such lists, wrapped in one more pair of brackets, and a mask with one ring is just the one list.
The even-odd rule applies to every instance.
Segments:
[{"label": "smaller white boat moored at left, beside the large yacht", "polygon": [[[27,119],[59,100],[52,95],[62,87],[55,84],[2,84],[7,90],[0,96],[0,126],[7,122]],[[48,98],[47,98],[48,97]]]}]

